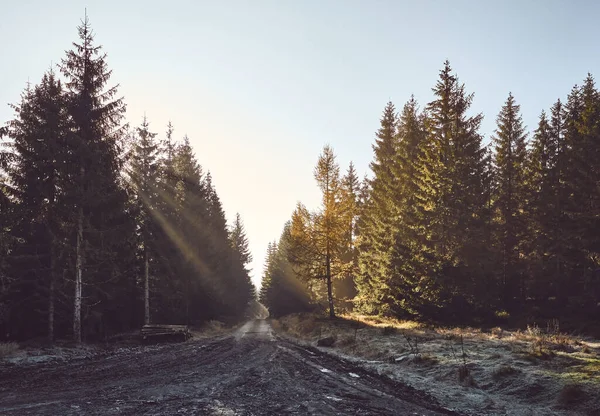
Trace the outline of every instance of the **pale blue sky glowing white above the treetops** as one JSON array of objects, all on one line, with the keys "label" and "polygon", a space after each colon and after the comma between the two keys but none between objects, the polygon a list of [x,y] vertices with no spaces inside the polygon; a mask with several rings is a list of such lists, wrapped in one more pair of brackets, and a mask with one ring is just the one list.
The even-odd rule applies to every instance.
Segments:
[{"label": "pale blue sky glowing white above the treetops", "polygon": [[531,131],[600,74],[595,1],[0,0],[0,123],[77,40],[86,9],[128,122],[146,114],[161,138],[168,121],[187,134],[228,220],[241,214],[257,286],[296,203],[319,204],[323,146],[368,173],[385,104],[414,94],[424,106],[446,59],[486,141],[509,92]]}]

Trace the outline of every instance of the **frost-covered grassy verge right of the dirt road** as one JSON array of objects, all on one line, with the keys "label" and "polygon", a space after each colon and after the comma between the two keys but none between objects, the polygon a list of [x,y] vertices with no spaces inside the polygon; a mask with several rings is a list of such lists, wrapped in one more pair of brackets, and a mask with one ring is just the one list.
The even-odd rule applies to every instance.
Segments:
[{"label": "frost-covered grassy verge right of the dirt road", "polygon": [[600,342],[554,328],[448,328],[380,317],[297,314],[274,330],[403,381],[468,414],[577,415],[600,409]]}]

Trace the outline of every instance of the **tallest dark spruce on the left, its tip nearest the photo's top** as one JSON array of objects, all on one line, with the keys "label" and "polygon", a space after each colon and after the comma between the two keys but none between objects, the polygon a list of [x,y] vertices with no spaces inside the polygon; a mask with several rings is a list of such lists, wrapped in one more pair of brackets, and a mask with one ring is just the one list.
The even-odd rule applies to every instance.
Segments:
[{"label": "tallest dark spruce on the left, its tip nearest the photo's top", "polygon": [[[66,79],[67,108],[74,126],[68,146],[74,187],[68,194],[75,207],[73,336],[81,342],[84,281],[86,287],[114,283],[119,275],[117,258],[123,256],[117,253],[125,249],[121,233],[129,230],[125,227],[126,195],[119,183],[125,105],[117,98],[117,87],[107,88],[111,71],[102,48],[94,44],[87,16],[78,33],[79,43],[67,51],[60,69]],[[94,300],[109,302],[106,293],[98,292]]]}]

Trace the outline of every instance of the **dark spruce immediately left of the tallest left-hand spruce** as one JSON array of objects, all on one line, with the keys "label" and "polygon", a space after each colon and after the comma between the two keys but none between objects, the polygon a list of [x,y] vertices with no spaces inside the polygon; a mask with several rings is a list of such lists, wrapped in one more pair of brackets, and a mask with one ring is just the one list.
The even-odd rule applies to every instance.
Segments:
[{"label": "dark spruce immediately left of the tallest left-hand spruce", "polygon": [[[62,84],[54,72],[44,74],[40,85],[28,87],[21,104],[13,109],[16,118],[10,123],[13,163],[9,179],[19,212],[13,235],[23,241],[12,256],[14,272],[20,276],[22,287],[47,303],[47,336],[53,341],[60,283],[57,270],[65,243],[61,195],[69,181],[65,148],[70,129]],[[21,305],[29,310],[42,309],[27,302]],[[22,317],[27,320],[30,316],[23,311]],[[30,318],[36,320],[35,316]],[[33,322],[28,323],[35,327]]]}]

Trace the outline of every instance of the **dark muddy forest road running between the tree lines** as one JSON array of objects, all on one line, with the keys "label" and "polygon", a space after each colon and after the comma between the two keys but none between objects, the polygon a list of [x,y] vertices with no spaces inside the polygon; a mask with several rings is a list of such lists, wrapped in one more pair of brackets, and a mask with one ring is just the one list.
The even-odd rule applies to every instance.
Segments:
[{"label": "dark muddy forest road running between the tree lines", "polygon": [[8,415],[442,415],[408,386],[275,336],[233,335],[113,348],[88,358],[0,362]]}]

